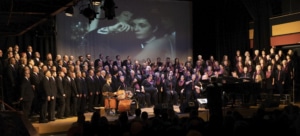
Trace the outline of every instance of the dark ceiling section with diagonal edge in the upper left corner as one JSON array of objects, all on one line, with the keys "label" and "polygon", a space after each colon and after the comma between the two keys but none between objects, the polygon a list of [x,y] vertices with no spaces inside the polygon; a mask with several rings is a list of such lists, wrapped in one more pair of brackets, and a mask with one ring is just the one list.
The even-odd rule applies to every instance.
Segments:
[{"label": "dark ceiling section with diagonal edge in the upper left corner", "polygon": [[53,18],[73,0],[1,0],[0,36],[18,36]]}]

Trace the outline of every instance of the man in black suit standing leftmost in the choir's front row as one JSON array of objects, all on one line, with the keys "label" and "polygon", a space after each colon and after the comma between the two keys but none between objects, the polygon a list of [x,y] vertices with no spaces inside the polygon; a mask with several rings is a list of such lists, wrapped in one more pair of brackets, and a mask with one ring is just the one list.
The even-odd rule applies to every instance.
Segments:
[{"label": "man in black suit standing leftmost in the choir's front row", "polygon": [[31,104],[34,98],[34,92],[32,85],[30,83],[30,71],[24,72],[24,77],[21,81],[21,98],[22,101],[22,110],[24,112],[25,117],[27,118],[31,111]]}]

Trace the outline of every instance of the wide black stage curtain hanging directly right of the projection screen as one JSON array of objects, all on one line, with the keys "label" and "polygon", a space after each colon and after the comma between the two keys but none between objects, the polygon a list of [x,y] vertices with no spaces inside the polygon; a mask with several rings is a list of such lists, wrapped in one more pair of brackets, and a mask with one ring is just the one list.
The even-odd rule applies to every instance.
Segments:
[{"label": "wide black stage curtain hanging directly right of the projection screen", "polygon": [[193,21],[195,61],[199,54],[204,59],[212,55],[220,61],[223,55],[228,55],[232,60],[236,50],[244,52],[250,49],[248,31],[251,17],[241,0],[209,1],[206,5],[195,1],[194,4],[201,7],[202,12],[196,13],[198,8],[194,9],[193,17],[203,18]]}]

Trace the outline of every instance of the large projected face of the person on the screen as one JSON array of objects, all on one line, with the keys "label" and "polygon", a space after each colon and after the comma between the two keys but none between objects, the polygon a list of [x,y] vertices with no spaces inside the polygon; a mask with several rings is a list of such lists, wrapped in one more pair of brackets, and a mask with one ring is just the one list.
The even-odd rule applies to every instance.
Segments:
[{"label": "large projected face of the person on the screen", "polygon": [[146,39],[153,36],[153,27],[144,18],[137,18],[132,20],[132,27],[137,39]]}]

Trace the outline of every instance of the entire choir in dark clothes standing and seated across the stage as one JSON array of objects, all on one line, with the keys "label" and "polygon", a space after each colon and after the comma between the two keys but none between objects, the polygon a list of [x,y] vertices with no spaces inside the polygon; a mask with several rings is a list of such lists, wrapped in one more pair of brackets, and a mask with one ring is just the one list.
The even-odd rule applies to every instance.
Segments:
[{"label": "entire choir in dark clothes standing and seated across the stage", "polygon": [[293,51],[275,48],[244,54],[238,50],[234,58],[224,55],[222,60],[198,55],[194,60],[142,61],[118,54],[93,59],[89,53],[48,53],[42,60],[30,45],[22,52],[18,48],[1,51],[3,99],[28,118],[39,115],[40,123],[93,112],[107,107],[108,99],[116,100],[109,103],[109,108],[115,104],[114,113],[126,99],[135,100],[139,108],[180,105],[205,97],[203,84],[212,76],[249,79],[260,83],[260,92],[278,94],[289,93],[294,78]]}]

